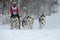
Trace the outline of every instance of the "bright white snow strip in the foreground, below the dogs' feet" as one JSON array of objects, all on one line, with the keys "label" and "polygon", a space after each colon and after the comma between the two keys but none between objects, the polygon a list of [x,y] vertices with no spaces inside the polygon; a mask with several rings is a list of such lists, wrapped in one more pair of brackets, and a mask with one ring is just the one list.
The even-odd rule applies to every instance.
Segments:
[{"label": "bright white snow strip in the foreground, below the dogs' feet", "polygon": [[2,30],[0,40],[60,40],[57,30]]}]

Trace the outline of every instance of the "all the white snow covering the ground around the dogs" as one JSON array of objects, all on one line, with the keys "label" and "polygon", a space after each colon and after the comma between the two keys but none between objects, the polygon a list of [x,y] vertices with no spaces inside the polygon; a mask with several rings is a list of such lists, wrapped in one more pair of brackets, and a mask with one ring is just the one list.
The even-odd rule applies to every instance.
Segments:
[{"label": "all the white snow covering the ground around the dogs", "polygon": [[0,40],[60,40],[59,13],[46,17],[44,29],[39,29],[38,19],[33,30],[10,30],[10,25],[0,25]]}]

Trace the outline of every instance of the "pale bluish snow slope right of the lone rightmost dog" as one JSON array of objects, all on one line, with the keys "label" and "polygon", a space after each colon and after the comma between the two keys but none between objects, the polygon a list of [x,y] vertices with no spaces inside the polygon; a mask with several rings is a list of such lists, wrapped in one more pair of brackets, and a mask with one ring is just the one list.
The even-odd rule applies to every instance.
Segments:
[{"label": "pale bluish snow slope right of the lone rightmost dog", "polygon": [[60,8],[58,9],[58,13],[52,14],[51,16],[46,17],[46,28],[47,29],[59,29],[60,28],[59,18],[60,18]]}]

